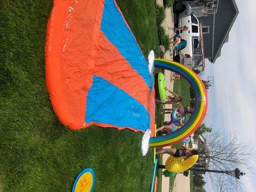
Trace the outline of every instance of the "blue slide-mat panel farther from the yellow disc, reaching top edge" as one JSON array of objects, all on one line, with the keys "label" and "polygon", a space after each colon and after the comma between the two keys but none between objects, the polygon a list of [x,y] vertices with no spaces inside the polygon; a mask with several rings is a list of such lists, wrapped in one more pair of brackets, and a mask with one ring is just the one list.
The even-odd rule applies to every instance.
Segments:
[{"label": "blue slide-mat panel farther from the yellow disc, reaching top edge", "polygon": [[149,74],[147,61],[113,0],[105,0],[101,30],[152,91],[154,76]]}]

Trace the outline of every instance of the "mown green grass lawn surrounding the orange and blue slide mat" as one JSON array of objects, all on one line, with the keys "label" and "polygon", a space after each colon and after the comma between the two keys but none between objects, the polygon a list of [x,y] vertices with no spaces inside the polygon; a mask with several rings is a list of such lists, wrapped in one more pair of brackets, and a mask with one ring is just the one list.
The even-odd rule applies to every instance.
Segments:
[{"label": "mown green grass lawn surrounding the orange and blue slide mat", "polygon": [[[117,3],[147,57],[152,47],[158,47],[154,0]],[[91,167],[96,172],[96,192],[148,191],[153,150],[142,157],[143,134],[96,126],[70,131],[52,110],[44,80],[44,45],[51,9],[52,0],[1,1],[3,190],[71,191],[79,172]]]}]

